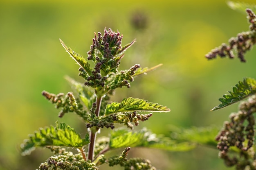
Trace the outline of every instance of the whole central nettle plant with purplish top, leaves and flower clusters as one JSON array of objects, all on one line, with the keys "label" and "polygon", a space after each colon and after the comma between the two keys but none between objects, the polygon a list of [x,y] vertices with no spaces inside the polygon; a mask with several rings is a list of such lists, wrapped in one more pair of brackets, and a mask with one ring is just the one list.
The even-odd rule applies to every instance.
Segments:
[{"label": "whole central nettle plant with purplish top, leaves and flower clusters", "polygon": [[[40,170],[97,170],[97,166],[107,163],[109,166],[120,165],[125,170],[154,170],[150,161],[142,158],[127,159],[130,147],[146,146],[149,148],[165,148],[172,150],[177,146],[171,145],[167,139],[157,138],[146,129],[133,132],[134,125],[139,121],[148,120],[152,112],[168,112],[170,109],[157,103],[148,102],[139,98],[124,98],[121,102],[110,102],[110,95],[120,87],[130,87],[130,83],[138,75],[154,70],[153,68],[140,68],[139,64],[128,70],[119,71],[119,64],[124,57],[124,51],[135,43],[121,46],[123,35],[111,29],[104,30],[104,34],[94,33],[93,44],[88,52],[88,60],[68,48],[63,41],[62,46],[80,66],[79,76],[85,83],[78,83],[67,77],[67,80],[76,90],[77,97],[72,92],[66,95],[51,94],[43,91],[42,94],[52,102],[57,109],[61,109],[59,117],[65,113],[74,112],[85,122],[88,131],[81,137],[76,131],[65,123],[56,122],[55,126],[40,128],[29,135],[21,144],[22,155],[29,154],[36,147],[45,147],[52,150],[54,156],[47,159],[39,167]],[[141,111],[150,113],[139,114]],[[123,124],[127,128],[115,129],[115,124]],[[101,128],[109,128],[109,137],[97,138]],[[172,142],[173,144],[173,142]],[[63,148],[64,147],[64,148]],[[74,154],[65,150],[65,147],[77,148],[79,153]],[[114,148],[124,148],[121,155],[106,158],[103,154]]]}]

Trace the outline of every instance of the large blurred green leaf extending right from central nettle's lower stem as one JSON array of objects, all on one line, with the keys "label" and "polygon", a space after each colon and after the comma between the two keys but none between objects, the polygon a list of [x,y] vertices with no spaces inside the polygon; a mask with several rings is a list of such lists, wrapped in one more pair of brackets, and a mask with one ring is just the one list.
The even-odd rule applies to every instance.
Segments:
[{"label": "large blurred green leaf extending right from central nettle's lower stem", "polygon": [[133,132],[127,129],[111,131],[109,148],[147,147],[169,151],[185,151],[195,148],[189,142],[177,142],[170,137],[157,136],[146,129]]}]

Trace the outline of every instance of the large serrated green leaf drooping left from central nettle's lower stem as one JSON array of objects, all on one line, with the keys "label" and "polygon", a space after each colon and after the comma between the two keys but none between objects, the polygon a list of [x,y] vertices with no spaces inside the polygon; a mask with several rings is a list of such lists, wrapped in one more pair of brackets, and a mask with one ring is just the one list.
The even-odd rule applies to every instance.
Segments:
[{"label": "large serrated green leaf drooping left from central nettle's lower stem", "polygon": [[90,143],[89,134],[85,139],[81,139],[80,135],[74,131],[69,125],[56,122],[56,126],[40,128],[34,135],[29,135],[29,139],[25,139],[20,145],[22,155],[29,155],[36,147],[44,146],[66,146],[74,148],[82,148]]}]

